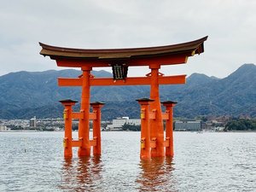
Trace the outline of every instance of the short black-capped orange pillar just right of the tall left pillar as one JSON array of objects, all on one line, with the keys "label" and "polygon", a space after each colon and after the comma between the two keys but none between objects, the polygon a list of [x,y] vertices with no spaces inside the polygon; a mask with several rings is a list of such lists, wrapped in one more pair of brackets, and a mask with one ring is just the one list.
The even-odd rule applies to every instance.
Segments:
[{"label": "short black-capped orange pillar just right of the tall left pillar", "polygon": [[93,139],[96,139],[96,146],[93,147],[93,154],[102,154],[102,136],[101,136],[101,108],[104,102],[92,102],[90,106],[93,109],[93,113],[96,113],[96,119],[93,119]]}]

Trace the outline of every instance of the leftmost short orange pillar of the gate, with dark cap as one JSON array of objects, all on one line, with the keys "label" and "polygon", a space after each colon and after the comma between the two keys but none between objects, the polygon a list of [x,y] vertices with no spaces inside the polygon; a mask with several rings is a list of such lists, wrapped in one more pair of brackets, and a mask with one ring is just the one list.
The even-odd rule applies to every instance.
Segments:
[{"label": "leftmost short orange pillar of the gate, with dark cap", "polygon": [[65,107],[63,112],[63,119],[65,122],[65,136],[63,139],[64,157],[72,157],[72,106],[76,101],[62,100],[60,102]]}]

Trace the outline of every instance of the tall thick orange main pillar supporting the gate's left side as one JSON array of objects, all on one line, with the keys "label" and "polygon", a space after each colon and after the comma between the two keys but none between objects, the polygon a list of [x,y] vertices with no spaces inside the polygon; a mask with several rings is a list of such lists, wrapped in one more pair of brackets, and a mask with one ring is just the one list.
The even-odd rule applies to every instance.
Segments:
[{"label": "tall thick orange main pillar supporting the gate's left side", "polygon": [[90,156],[90,71],[91,67],[82,67],[82,96],[81,96],[81,111],[83,117],[79,119],[79,140],[82,140],[82,146],[79,147],[78,155]]}]

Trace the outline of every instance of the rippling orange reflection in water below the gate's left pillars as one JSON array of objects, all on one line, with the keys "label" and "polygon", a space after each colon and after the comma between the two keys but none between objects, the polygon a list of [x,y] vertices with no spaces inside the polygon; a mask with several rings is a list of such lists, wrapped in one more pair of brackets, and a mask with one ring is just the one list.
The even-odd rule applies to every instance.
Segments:
[{"label": "rippling orange reflection in water below the gate's left pillars", "polygon": [[68,191],[96,191],[102,179],[100,156],[63,160],[62,182],[59,186]]}]

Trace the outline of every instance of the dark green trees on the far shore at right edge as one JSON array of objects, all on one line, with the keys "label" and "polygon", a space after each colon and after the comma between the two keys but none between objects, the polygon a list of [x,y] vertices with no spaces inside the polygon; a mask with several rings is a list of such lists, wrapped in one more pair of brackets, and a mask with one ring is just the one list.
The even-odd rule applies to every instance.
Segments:
[{"label": "dark green trees on the far shore at right edge", "polygon": [[256,131],[256,120],[233,119],[225,125],[225,131]]}]

